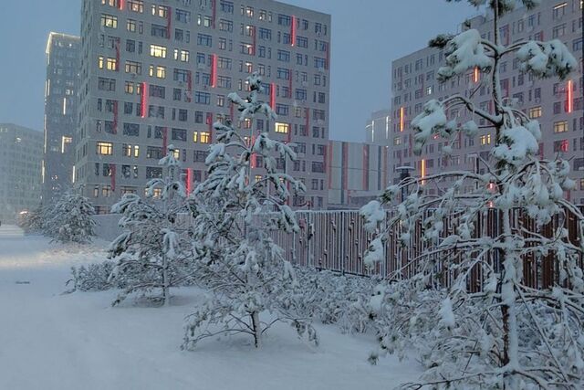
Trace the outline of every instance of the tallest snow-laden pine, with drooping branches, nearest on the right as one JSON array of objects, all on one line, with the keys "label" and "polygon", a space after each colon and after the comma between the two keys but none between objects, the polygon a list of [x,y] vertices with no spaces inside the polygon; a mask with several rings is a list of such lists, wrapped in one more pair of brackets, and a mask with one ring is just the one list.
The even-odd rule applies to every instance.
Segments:
[{"label": "tallest snow-laden pine, with drooping branches, nearest on the right", "polygon": [[[443,82],[481,69],[494,110],[481,110],[460,95],[428,101],[412,120],[413,152],[420,154],[430,137],[452,145],[458,132],[471,137],[479,132],[474,121],[448,121],[446,111],[454,108],[494,128],[495,147],[488,160],[480,160],[485,174],[406,178],[361,210],[370,230],[378,230],[366,256],[369,263],[384,258],[391,233],[397,231],[412,248],[412,237],[422,227],[424,241],[422,253],[404,259],[381,297],[375,297],[381,350],[371,359],[417,347],[426,371],[422,383],[406,388],[584,388],[584,216],[564,198],[564,191],[574,188],[569,163],[559,156],[537,159],[539,124],[504,99],[499,78],[501,61],[513,55],[521,70],[536,78],[564,79],[578,64],[558,40],[501,42],[499,19],[516,1],[469,2],[486,3],[492,11],[494,41],[468,29],[436,37],[430,45],[444,50],[445,66],[438,72]],[[528,9],[537,3],[523,0]],[[438,195],[427,191],[441,181],[453,184]],[[384,206],[402,189],[406,198],[386,216]],[[500,221],[493,237],[478,230],[479,219],[488,213]],[[530,222],[516,222],[519,215]],[[578,222],[576,240],[566,229],[568,218]],[[525,260],[541,269],[548,256],[555,258],[558,278],[552,286],[531,287],[524,279]],[[471,288],[477,284],[478,291]]]}]

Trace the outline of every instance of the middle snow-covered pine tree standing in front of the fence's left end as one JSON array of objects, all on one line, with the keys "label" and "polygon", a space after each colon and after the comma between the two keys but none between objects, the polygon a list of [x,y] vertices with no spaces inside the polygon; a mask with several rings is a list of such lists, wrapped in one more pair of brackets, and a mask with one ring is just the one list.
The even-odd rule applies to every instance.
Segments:
[{"label": "middle snow-covered pine tree standing in front of the fence's left end", "polygon": [[[236,93],[228,97],[238,106],[239,120],[253,120],[255,114],[276,120],[276,113],[259,100],[261,78],[253,74],[247,80],[248,97]],[[276,158],[294,160],[296,154],[267,132],[244,134],[231,121],[214,123],[214,130],[216,143],[206,159],[209,175],[195,189],[198,201],[192,204],[198,277],[210,294],[188,317],[183,347],[238,333],[251,335],[259,347],[262,335],[276,321],[291,323],[299,335],[316,343],[309,319],[299,312],[302,297],[294,269],[270,237],[274,230],[298,230],[287,201],[289,188],[304,191],[304,185],[276,169]],[[252,161],[261,161],[257,171],[261,177],[252,175]]]}]

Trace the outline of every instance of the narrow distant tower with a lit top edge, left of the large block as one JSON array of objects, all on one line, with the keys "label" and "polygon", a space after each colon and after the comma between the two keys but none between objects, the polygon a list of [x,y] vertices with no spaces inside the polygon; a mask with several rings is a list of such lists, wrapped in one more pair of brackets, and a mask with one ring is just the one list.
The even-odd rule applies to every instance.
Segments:
[{"label": "narrow distant tower with a lit top edge, left of the large block", "polygon": [[74,180],[80,49],[79,37],[48,35],[42,177],[45,202],[67,191]]}]

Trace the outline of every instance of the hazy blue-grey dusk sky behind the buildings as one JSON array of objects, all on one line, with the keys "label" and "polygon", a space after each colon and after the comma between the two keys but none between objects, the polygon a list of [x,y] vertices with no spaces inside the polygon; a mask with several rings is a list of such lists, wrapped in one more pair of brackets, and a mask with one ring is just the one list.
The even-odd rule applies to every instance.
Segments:
[{"label": "hazy blue-grey dusk sky behind the buildings", "polygon": [[[42,131],[47,35],[79,34],[81,0],[0,1],[0,122]],[[330,137],[347,141],[363,141],[370,112],[389,107],[392,59],[476,13],[444,0],[282,1],[332,15]]]}]

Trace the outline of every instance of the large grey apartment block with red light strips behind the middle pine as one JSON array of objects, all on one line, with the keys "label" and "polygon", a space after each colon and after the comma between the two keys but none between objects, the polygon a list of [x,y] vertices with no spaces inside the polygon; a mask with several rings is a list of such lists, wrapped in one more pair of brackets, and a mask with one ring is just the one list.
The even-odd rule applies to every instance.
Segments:
[{"label": "large grey apartment block with red light strips behind the middle pine", "polygon": [[[170,145],[193,189],[214,121],[296,143],[298,161],[278,165],[327,178],[330,16],[273,0],[84,0],[81,12],[76,179],[99,213],[143,193]],[[276,121],[239,123],[227,99],[252,72]],[[327,188],[310,188],[293,206],[326,207]]]}]

